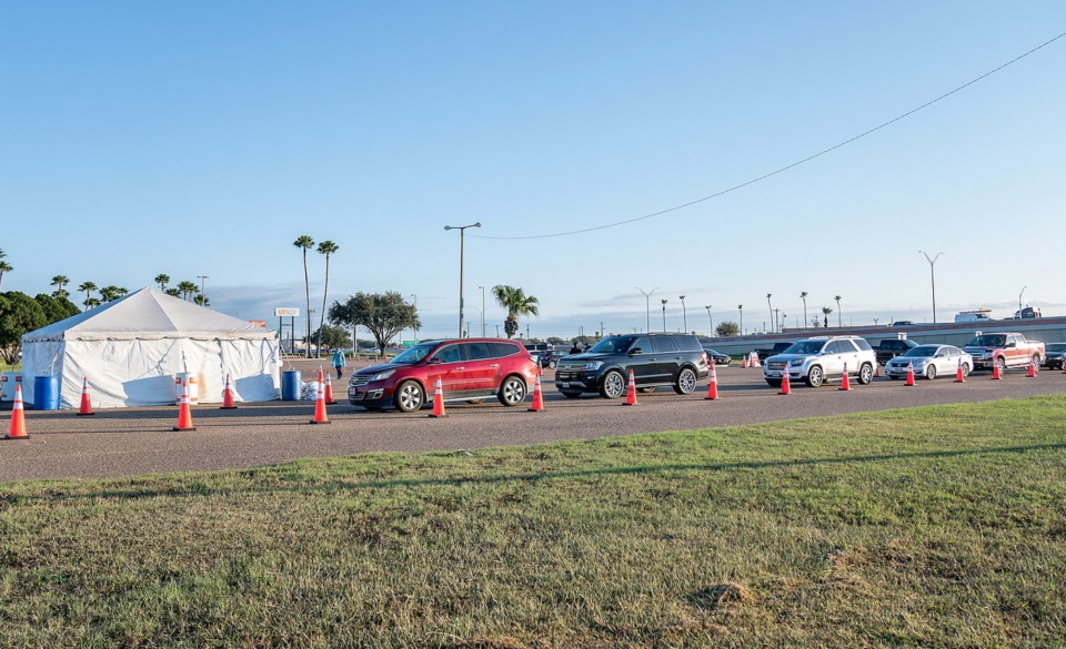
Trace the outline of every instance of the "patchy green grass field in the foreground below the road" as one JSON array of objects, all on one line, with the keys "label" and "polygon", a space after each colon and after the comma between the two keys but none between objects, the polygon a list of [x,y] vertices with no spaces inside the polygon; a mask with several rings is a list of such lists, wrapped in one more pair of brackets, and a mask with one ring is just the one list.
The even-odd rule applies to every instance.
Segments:
[{"label": "patchy green grass field in the foreground below the road", "polygon": [[1066,397],[12,483],[4,647],[1063,647]]}]

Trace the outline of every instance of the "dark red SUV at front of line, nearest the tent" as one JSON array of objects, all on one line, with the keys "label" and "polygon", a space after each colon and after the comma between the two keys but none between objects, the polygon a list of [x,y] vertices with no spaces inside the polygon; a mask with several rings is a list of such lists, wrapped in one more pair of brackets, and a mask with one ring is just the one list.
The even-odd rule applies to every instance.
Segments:
[{"label": "dark red SUV at front of line, nearest the tent", "polygon": [[409,347],[383,365],[360,369],[348,382],[348,400],[368,410],[395,407],[413,413],[433,403],[436,379],[444,402],[481,402],[495,396],[505,406],[525,400],[540,368],[514,341],[463,338]]}]

